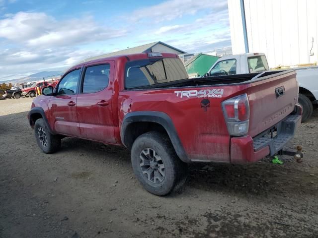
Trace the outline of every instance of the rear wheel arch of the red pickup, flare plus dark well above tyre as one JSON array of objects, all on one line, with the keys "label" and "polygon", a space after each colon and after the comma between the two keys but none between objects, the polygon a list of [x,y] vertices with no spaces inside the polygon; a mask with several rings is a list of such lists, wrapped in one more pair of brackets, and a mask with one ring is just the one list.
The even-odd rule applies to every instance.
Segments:
[{"label": "rear wheel arch of the red pickup, flare plus dark well above tyre", "polygon": [[132,112],[127,114],[121,125],[121,141],[128,149],[131,149],[137,137],[149,131],[165,133],[180,160],[190,162],[172,120],[162,112]]}]

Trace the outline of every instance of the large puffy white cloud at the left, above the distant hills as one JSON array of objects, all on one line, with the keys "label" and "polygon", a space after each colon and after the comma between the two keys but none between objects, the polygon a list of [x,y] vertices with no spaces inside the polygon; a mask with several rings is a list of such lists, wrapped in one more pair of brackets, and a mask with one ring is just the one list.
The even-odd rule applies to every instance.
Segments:
[{"label": "large puffy white cloud at the left, above the distant hills", "polygon": [[0,20],[0,38],[37,47],[57,47],[124,36],[124,29],[97,25],[92,17],[58,21],[43,12],[18,12]]}]

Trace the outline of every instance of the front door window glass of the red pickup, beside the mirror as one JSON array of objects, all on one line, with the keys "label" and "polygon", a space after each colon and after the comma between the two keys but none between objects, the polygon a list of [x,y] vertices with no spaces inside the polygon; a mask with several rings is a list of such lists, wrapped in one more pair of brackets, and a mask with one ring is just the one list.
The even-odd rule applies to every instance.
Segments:
[{"label": "front door window glass of the red pickup, beside the mirror", "polygon": [[76,94],[80,69],[76,69],[65,75],[59,83],[58,95]]}]

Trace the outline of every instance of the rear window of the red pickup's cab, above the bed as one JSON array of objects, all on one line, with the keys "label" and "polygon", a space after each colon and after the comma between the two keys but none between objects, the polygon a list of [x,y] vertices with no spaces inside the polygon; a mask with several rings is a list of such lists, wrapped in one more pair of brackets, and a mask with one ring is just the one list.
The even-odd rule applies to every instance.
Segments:
[{"label": "rear window of the red pickup's cab, above the bed", "polygon": [[126,89],[187,78],[185,67],[178,58],[135,60],[126,63]]}]

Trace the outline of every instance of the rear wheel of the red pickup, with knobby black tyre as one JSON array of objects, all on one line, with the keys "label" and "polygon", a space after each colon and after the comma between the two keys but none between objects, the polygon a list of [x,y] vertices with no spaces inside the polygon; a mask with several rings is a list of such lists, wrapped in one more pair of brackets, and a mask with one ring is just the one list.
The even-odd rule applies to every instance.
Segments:
[{"label": "rear wheel of the red pickup, with knobby black tyre", "polygon": [[131,161],[137,179],[155,195],[179,189],[187,177],[187,165],[178,158],[169,138],[156,131],[135,140]]}]

